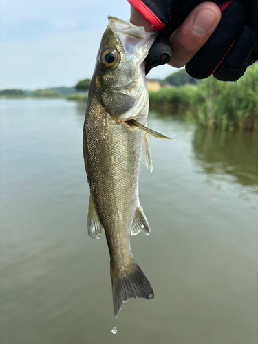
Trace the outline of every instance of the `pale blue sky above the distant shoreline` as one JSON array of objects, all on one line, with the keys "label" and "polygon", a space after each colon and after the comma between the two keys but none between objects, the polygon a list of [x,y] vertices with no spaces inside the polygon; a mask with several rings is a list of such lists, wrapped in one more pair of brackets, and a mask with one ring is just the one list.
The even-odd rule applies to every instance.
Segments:
[{"label": "pale blue sky above the distant shoreline", "polygon": [[[126,0],[0,0],[0,89],[73,87],[91,78],[107,16],[129,21]],[[177,69],[156,67],[149,78]]]}]

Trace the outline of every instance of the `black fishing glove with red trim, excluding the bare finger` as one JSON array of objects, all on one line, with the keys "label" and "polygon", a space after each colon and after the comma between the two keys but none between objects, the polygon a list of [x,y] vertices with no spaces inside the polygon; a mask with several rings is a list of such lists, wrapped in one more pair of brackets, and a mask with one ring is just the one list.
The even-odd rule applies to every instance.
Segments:
[{"label": "black fishing glove with red trim, excluding the bare finger", "polygon": [[[202,0],[128,0],[131,5],[151,23],[155,30],[171,34]],[[236,81],[246,68],[258,59],[258,0],[213,0],[222,10],[217,28],[186,65],[186,72],[193,78],[208,78],[211,74],[218,80]],[[159,35],[160,36],[160,35]],[[158,37],[159,37],[158,36]],[[160,43],[159,43],[160,44]],[[169,54],[169,43],[155,43],[147,57],[147,68],[167,61],[160,58]],[[160,50],[161,49],[161,50]],[[157,57],[155,57],[157,56]],[[163,55],[164,56],[164,55]],[[147,72],[149,72],[147,70]]]}]

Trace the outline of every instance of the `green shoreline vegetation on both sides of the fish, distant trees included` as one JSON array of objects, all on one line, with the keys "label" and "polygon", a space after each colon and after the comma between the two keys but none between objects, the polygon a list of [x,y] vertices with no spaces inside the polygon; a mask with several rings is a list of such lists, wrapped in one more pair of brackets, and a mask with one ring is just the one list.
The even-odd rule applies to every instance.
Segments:
[{"label": "green shoreline vegetation on both sides of the fish, distant trees included", "polygon": [[[87,102],[89,79],[75,87],[20,89],[0,91],[0,98],[65,98]],[[236,83],[222,82],[210,77],[206,80],[191,78],[184,69],[164,80],[148,82],[150,110],[180,115],[182,120],[194,122],[208,129],[258,131],[258,63],[248,67]],[[155,91],[151,91],[155,83]],[[158,89],[158,90],[157,90]]]}]

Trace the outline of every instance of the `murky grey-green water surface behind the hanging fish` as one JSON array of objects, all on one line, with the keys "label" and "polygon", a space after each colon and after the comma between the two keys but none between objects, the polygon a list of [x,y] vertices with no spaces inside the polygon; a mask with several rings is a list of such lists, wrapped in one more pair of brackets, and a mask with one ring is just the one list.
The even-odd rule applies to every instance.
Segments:
[{"label": "murky grey-green water surface behind the hanging fish", "polygon": [[[258,135],[150,114],[153,173],[131,239],[155,292],[115,319],[105,236],[87,236],[85,105],[1,100],[4,344],[256,344]],[[112,334],[116,327],[118,332]]]}]

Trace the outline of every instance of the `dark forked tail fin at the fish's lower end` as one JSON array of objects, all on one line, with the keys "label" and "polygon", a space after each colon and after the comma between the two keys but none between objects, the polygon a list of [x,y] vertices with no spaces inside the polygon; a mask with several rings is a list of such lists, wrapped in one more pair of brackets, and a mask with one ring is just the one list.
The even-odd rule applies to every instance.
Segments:
[{"label": "dark forked tail fin at the fish's lower end", "polygon": [[134,270],[130,275],[122,278],[111,276],[113,289],[113,306],[116,318],[122,308],[122,303],[128,299],[136,297],[144,297],[144,299],[152,300],[154,297],[151,283],[144,275],[140,266],[134,262]]}]

